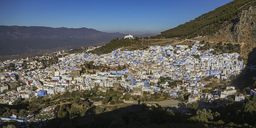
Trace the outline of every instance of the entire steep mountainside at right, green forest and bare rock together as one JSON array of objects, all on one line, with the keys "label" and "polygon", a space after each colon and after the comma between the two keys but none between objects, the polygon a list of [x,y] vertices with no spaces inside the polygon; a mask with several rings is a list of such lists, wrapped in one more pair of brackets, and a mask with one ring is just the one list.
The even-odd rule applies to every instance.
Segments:
[{"label": "entire steep mountainside at right, green forest and bare rock together", "polygon": [[[193,39],[197,36],[203,37]],[[171,37],[240,43],[241,56],[248,58],[256,47],[256,0],[234,0],[151,38]]]}]

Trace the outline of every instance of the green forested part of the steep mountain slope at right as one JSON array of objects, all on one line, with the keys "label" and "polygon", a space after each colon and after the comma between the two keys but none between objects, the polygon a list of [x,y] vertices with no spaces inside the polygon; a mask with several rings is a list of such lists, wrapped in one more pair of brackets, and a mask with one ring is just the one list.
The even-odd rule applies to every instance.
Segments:
[{"label": "green forested part of the steep mountain slope at right", "polygon": [[172,38],[172,37],[196,37],[216,33],[225,22],[232,22],[243,6],[252,3],[254,0],[234,0],[228,4],[220,6],[213,11],[207,12],[194,20],[190,20],[175,28],[161,32],[152,38]]}]

